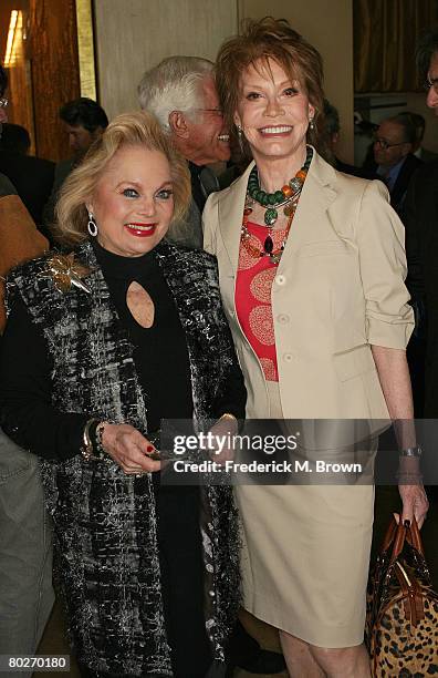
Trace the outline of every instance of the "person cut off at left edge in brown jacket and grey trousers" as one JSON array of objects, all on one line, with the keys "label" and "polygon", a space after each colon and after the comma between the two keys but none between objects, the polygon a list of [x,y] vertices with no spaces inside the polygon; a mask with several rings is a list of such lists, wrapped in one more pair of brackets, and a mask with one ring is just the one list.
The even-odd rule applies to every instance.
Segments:
[{"label": "person cut off at left edge in brown jacket and grey trousers", "polygon": [[[0,136],[8,120],[7,74],[0,65]],[[0,174],[0,335],[4,276],[41,255],[39,233],[10,179]],[[34,655],[52,609],[52,536],[39,464],[0,429],[0,655]],[[18,672],[30,678],[31,670]]]}]

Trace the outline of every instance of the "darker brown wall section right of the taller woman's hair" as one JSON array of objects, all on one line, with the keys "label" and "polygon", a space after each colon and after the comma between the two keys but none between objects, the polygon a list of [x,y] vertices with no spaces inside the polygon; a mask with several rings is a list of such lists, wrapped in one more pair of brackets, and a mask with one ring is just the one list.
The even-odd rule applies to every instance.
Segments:
[{"label": "darker brown wall section right of the taller woman's hair", "polygon": [[288,19],[321,52],[326,96],[341,117],[338,155],[353,162],[353,0],[239,0],[239,14]]}]

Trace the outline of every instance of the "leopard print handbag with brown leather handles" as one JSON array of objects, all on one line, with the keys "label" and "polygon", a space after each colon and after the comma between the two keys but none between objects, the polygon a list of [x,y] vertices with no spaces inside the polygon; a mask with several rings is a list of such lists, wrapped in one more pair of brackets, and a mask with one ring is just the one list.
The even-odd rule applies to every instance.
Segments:
[{"label": "leopard print handbag with brown leather handles", "polygon": [[438,595],[415,520],[392,520],[369,575],[365,639],[374,678],[438,676]]}]

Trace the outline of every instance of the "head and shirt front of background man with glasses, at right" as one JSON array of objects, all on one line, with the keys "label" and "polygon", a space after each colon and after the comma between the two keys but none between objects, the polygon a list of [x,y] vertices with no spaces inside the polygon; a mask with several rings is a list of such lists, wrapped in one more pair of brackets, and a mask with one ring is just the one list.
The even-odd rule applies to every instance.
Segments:
[{"label": "head and shirt front of background man with glasses, at right", "polygon": [[383,120],[374,140],[375,172],[389,189],[390,204],[401,213],[410,178],[421,166],[414,155],[417,147],[417,129],[404,114]]}]

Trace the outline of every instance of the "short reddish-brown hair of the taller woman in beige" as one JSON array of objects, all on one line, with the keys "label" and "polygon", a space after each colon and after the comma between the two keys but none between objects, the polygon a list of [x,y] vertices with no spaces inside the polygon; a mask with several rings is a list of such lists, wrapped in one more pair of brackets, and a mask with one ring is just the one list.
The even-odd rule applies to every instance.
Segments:
[{"label": "short reddish-brown hair of the taller woman in beige", "polygon": [[307,136],[311,143],[316,144],[317,129],[324,111],[324,73],[321,54],[294,31],[285,19],[272,17],[259,21],[247,20],[242,33],[226,40],[219,49],[216,60],[216,84],[230,133],[236,141],[233,115],[243,71],[250,65],[257,68],[258,61],[269,70],[269,59],[277,61],[291,80],[298,80],[304,88],[309,101],[315,107],[315,130],[309,130]]}]

